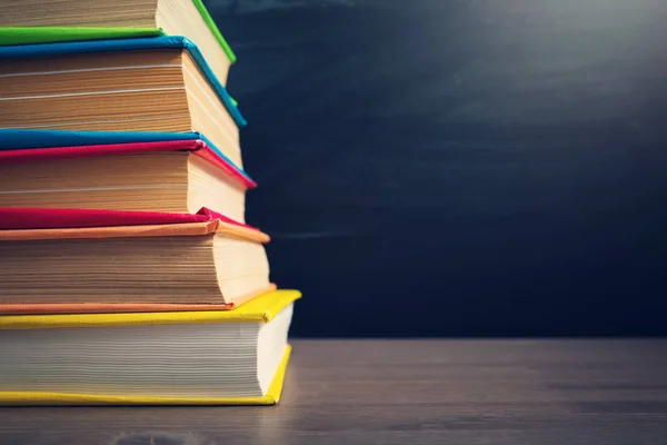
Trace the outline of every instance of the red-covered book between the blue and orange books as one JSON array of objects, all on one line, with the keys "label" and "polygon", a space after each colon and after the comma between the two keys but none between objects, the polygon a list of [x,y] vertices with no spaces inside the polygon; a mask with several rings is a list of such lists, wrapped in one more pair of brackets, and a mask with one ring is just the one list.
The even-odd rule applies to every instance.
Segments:
[{"label": "red-covered book between the blue and orange books", "polygon": [[[246,190],[257,185],[201,137],[109,144],[118,132],[69,134],[0,129],[0,207],[191,214],[207,207],[245,221]],[[87,145],[12,148],[58,138]]]}]

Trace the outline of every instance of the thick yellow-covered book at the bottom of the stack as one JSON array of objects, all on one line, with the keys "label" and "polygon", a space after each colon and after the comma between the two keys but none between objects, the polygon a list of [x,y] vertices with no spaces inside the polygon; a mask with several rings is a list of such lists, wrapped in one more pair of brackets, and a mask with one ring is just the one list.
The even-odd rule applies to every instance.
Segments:
[{"label": "thick yellow-covered book at the bottom of the stack", "polygon": [[298,290],[235,310],[0,316],[0,405],[270,405]]}]

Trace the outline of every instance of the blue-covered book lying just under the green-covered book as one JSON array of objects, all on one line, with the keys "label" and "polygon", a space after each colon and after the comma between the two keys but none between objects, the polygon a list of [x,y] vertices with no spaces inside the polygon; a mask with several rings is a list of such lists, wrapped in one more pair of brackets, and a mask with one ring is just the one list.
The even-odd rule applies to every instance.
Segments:
[{"label": "blue-covered book lying just under the green-covered book", "polygon": [[0,60],[1,128],[201,132],[242,168],[247,122],[183,37],[0,47]]}]

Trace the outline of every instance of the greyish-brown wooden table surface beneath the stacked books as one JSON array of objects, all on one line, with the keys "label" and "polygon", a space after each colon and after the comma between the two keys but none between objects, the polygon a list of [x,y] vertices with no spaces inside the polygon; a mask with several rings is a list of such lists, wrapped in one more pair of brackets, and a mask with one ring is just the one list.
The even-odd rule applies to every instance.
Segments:
[{"label": "greyish-brown wooden table surface beneath the stacked books", "polygon": [[667,340],[293,340],[273,407],[0,408],[0,444],[665,444]]}]

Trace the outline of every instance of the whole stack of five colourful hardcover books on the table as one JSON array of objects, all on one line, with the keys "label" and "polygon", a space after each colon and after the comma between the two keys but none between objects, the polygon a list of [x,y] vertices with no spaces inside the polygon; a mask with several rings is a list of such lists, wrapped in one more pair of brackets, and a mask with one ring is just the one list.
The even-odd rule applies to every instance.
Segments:
[{"label": "whole stack of five colourful hardcover books on the table", "polygon": [[300,293],[236,57],[200,0],[117,3],[0,0],[0,404],[275,404]]}]

